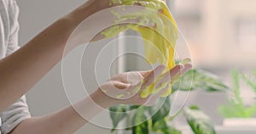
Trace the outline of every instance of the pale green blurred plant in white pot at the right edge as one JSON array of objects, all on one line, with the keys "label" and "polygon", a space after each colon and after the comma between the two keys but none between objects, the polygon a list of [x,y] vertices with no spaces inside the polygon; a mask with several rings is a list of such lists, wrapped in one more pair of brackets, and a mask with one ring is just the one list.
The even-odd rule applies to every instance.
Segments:
[{"label": "pale green blurred plant in white pot at the right edge", "polygon": [[246,104],[241,96],[241,82],[245,82],[256,95],[256,70],[251,76],[239,70],[232,70],[231,74],[233,87],[228,97],[229,103],[221,105],[218,109],[224,117],[224,126],[256,126],[256,103]]}]

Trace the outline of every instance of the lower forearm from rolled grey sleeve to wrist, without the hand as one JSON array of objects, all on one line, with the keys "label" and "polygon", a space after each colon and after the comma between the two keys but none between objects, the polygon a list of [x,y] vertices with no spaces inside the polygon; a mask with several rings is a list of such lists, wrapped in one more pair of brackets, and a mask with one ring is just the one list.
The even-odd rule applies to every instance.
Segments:
[{"label": "lower forearm from rolled grey sleeve to wrist, without the hand", "polygon": [[[94,101],[91,98],[95,98]],[[109,103],[104,102],[106,102],[106,99],[100,98],[97,92],[94,92],[90,95],[90,98],[84,98],[79,103],[75,103],[73,106],[62,109],[55,114],[21,122],[11,134],[72,134],[79,130],[81,126],[84,126],[88,122],[87,120],[102,111],[102,108],[99,108],[95,103],[101,104],[103,109],[110,106]]]}]

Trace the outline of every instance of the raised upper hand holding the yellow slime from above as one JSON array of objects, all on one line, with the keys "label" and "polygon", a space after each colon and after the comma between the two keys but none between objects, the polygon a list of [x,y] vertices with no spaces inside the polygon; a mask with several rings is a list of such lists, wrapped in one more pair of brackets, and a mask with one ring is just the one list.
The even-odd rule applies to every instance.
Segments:
[{"label": "raised upper hand holding the yellow slime from above", "polygon": [[[73,34],[69,36],[69,43],[71,44],[71,46],[69,47],[73,48],[80,44],[84,44],[84,42],[87,43],[99,41],[106,38],[100,33],[101,30],[97,29],[102,29],[102,25],[104,28],[107,28],[104,20],[109,20],[108,15],[110,15],[111,13],[109,12],[108,14],[108,12],[102,10],[115,6],[110,6],[109,3],[109,0],[89,0],[86,3],[80,5],[78,8],[75,8],[73,12],[63,17],[64,20],[67,20],[67,25],[72,27],[72,30],[75,30],[73,31]],[[102,13],[99,13],[100,11],[102,11]],[[99,14],[93,15],[96,13]],[[105,13],[108,15],[106,15]],[[111,14],[110,16],[112,15],[113,14]],[[93,19],[90,18],[90,16]],[[84,24],[83,21],[86,21],[87,23]]]}]

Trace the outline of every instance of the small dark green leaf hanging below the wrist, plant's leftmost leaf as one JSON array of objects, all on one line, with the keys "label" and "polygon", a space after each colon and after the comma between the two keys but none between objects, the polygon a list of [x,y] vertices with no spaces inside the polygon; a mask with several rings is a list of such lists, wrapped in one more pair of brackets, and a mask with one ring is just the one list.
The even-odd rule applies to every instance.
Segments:
[{"label": "small dark green leaf hanging below the wrist, plant's leftmost leaf", "polygon": [[124,120],[125,117],[128,115],[126,114],[127,111],[129,111],[129,106],[128,105],[117,105],[114,107],[110,107],[110,118],[113,123],[113,129],[112,132],[115,130],[115,128],[119,125],[119,122],[121,120]]}]

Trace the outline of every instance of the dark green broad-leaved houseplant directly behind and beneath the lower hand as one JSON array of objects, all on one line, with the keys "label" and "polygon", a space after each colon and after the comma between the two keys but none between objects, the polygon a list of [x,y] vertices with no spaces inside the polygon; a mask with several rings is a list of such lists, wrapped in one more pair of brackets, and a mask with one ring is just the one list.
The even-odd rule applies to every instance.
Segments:
[{"label": "dark green broad-leaved houseplant directly behind and beneath the lower hand", "polygon": [[[183,75],[180,82],[176,82],[172,86],[172,94],[178,90],[189,92],[190,90],[205,90],[207,92],[225,91],[228,89],[224,83],[218,79],[217,76],[204,70],[189,70],[188,73]],[[172,95],[171,95],[172,97]],[[160,109],[157,107],[163,103]],[[136,114],[127,114],[127,111],[137,109]],[[164,133],[164,134],[182,134],[182,131],[177,130],[172,126],[172,120],[178,114],[183,114],[195,134],[215,134],[212,121],[206,114],[204,114],[197,106],[190,106],[189,108],[182,109],[175,116],[169,116],[171,109],[170,99],[160,98],[153,107],[136,106],[136,105],[118,105],[110,108],[110,117],[113,121],[113,130],[117,128],[122,120],[126,120],[134,126],[126,128],[126,131],[132,131],[133,134],[148,134],[151,132]],[[155,113],[149,120],[147,119],[148,113]],[[138,124],[137,122],[143,122]]]}]

